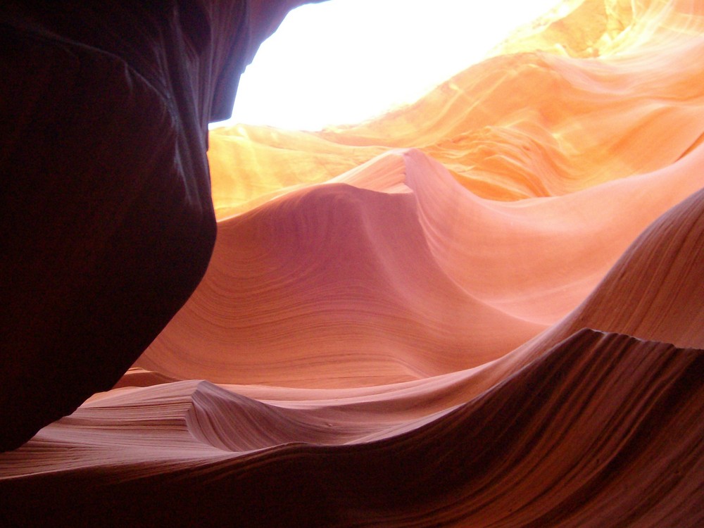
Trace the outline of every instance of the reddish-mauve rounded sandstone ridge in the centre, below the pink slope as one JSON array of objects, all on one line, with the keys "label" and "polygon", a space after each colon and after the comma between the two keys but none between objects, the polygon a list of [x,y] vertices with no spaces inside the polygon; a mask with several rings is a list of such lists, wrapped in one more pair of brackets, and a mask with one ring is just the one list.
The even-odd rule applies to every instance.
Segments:
[{"label": "reddish-mauve rounded sandstone ridge in the centre, below the pink slope", "polygon": [[458,287],[406,191],[303,189],[221,222],[218,237],[212,279],[142,367],[223,383],[385,384],[485,363],[545,328]]}]

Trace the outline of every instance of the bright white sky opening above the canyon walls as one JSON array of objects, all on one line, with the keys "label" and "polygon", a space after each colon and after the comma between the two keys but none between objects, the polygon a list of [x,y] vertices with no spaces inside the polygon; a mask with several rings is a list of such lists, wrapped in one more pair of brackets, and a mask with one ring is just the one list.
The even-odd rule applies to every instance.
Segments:
[{"label": "bright white sky opening above the canyon walls", "polygon": [[362,122],[486,58],[558,0],[329,0],[291,11],[241,77],[232,119],[294,130]]}]

